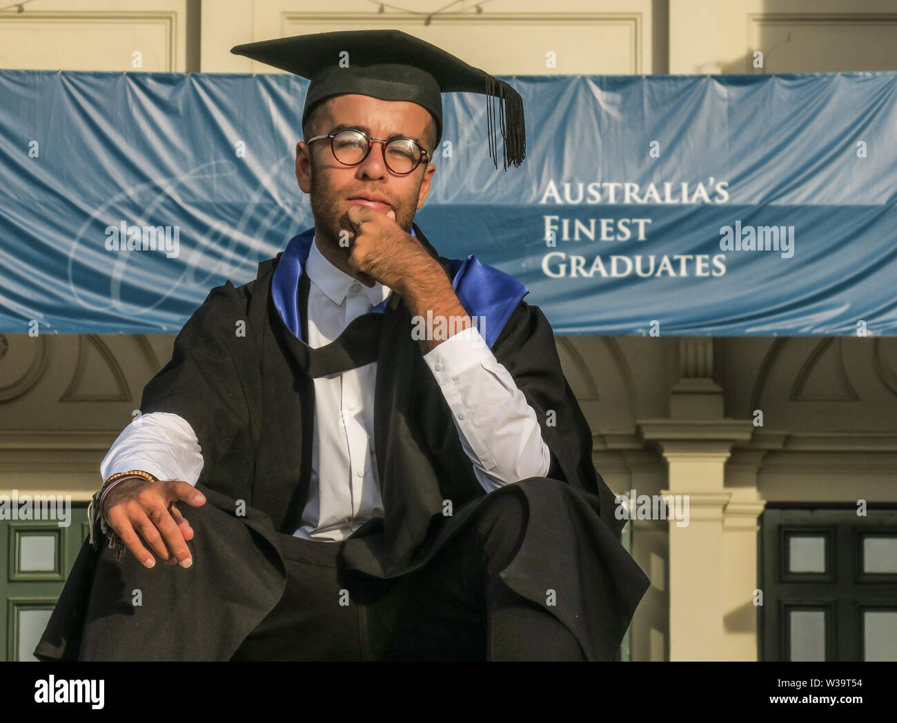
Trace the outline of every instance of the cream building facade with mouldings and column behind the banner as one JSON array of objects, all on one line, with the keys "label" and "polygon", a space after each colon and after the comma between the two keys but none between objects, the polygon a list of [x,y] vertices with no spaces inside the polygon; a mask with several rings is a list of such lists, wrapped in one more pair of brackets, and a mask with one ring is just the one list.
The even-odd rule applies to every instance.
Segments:
[{"label": "cream building facade with mouldings and column behind the banner", "polygon": [[[0,12],[0,67],[266,73],[230,48],[396,28],[496,75],[897,70],[887,0],[443,4],[30,0]],[[75,508],[69,527],[0,520],[7,659],[32,658],[100,459],[172,343],[0,335],[0,494]],[[560,336],[558,349],[651,579],[624,658],[897,659],[897,339]]]}]

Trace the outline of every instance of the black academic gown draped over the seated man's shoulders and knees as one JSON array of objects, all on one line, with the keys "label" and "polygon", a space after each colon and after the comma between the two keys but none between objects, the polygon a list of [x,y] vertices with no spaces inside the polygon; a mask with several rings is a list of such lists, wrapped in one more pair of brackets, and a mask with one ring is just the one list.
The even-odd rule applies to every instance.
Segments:
[{"label": "black academic gown draped over the seated man's shoulders and knees", "polygon": [[[416,225],[414,231],[455,277],[461,262],[440,257]],[[310,242],[311,233],[300,237]],[[300,527],[309,494],[312,377],[322,372],[378,362],[374,443],[385,517],[345,541],[346,571],[388,579],[420,568],[483,501],[448,404],[412,338],[405,303],[392,294],[379,318],[357,318],[334,344],[312,351],[275,305],[272,279],[276,266],[288,263],[283,254],[259,264],[252,282],[214,288],[179,333],[169,364],[144,388],[141,411],[184,417],[203,452],[196,487],[207,501],[196,509],[179,504],[196,531],[193,566],[146,569],[130,552],[118,561],[104,539],[85,541],[35,649],[39,658],[231,658],[283,594],[274,532]],[[479,272],[459,298],[480,307],[468,313],[488,308],[491,320],[499,319],[487,342],[536,411],[552,459],[545,477],[490,492],[523,494],[530,510],[523,543],[501,578],[557,616],[589,660],[612,659],[649,579],[619,542],[623,520],[592,464],[591,431],[544,314],[507,291],[516,283],[507,274],[482,265]],[[510,300],[503,314],[495,294]],[[307,291],[299,293],[303,312],[304,298]],[[546,588],[556,592],[554,605],[546,606]]]}]

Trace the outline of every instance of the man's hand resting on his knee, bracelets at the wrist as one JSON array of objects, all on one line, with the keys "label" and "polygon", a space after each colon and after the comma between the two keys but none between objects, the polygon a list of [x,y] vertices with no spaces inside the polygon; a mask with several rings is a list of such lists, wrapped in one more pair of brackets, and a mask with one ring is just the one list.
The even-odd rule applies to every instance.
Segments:
[{"label": "man's hand resting on his knee, bracelets at the wrist", "polygon": [[152,567],[156,561],[141,543],[141,537],[161,560],[186,568],[193,564],[186,542],[193,539],[193,528],[174,506],[177,501],[200,507],[205,504],[205,497],[187,482],[126,480],[109,492],[102,513],[109,527],[146,567]]}]

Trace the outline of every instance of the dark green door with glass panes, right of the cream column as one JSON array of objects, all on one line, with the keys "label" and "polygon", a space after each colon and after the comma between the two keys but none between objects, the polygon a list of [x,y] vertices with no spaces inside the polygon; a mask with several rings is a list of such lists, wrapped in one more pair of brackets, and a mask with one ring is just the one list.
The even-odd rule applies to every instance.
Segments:
[{"label": "dark green door with glass panes, right of the cream column", "polygon": [[897,660],[897,510],[779,502],[760,519],[760,659]]}]

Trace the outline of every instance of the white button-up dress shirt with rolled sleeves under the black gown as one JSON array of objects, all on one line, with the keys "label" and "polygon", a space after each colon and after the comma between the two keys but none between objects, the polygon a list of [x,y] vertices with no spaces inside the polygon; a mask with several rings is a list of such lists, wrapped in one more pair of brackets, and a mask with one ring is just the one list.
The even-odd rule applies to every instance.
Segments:
[{"label": "white button-up dress shirt with rolled sleeves under the black gown", "polygon": [[[386,299],[381,283],[368,288],[327,261],[312,242],[308,344],[318,348],[354,318]],[[550,465],[533,408],[475,328],[450,336],[423,354],[445,396],[461,446],[486,492],[533,476]],[[382,517],[373,441],[377,362],[313,379],[314,434],[309,500],[293,534],[340,541],[367,520]],[[142,469],[160,479],[196,484],[203,468],[196,434],[178,414],[153,412],[131,422],[100,463],[103,479]]]}]

